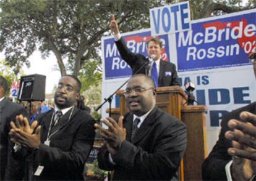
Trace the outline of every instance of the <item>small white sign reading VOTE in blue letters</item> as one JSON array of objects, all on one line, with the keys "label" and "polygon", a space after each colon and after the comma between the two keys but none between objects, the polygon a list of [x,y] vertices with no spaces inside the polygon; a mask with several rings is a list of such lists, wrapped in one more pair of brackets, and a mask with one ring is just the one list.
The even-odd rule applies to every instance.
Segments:
[{"label": "small white sign reading VOTE in blue letters", "polygon": [[152,35],[190,30],[189,1],[150,9]]}]

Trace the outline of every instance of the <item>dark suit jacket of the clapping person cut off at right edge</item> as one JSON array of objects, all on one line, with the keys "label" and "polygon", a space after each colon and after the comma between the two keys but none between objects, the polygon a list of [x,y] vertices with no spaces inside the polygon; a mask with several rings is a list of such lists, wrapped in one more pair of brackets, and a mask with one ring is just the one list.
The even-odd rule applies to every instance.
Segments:
[{"label": "dark suit jacket of the clapping person cut off at right edge", "polygon": [[232,156],[228,154],[228,148],[232,147],[231,140],[225,138],[226,131],[231,130],[228,127],[228,121],[230,119],[238,119],[242,111],[249,111],[250,113],[256,113],[256,102],[251,103],[245,107],[231,111],[224,116],[221,121],[221,132],[219,139],[216,142],[213,150],[207,159],[205,159],[202,165],[203,180],[227,180],[225,166],[231,161]]}]

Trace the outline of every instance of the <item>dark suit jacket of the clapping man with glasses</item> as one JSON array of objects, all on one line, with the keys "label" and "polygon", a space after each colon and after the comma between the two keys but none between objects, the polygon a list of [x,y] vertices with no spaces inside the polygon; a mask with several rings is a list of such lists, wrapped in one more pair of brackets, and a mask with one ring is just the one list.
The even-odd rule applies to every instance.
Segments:
[{"label": "dark suit jacket of the clapping man with glasses", "polygon": [[103,146],[98,153],[100,169],[114,170],[114,180],[176,180],[187,143],[184,123],[155,107],[131,142],[132,118],[131,113],[124,116],[127,134],[113,155],[116,165],[109,162]]}]

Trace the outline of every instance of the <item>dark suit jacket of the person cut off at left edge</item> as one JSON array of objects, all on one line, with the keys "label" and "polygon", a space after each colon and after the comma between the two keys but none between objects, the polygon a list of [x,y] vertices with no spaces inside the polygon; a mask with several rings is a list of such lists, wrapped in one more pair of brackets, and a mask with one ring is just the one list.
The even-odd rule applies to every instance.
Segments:
[{"label": "dark suit jacket of the person cut off at left edge", "polygon": [[11,156],[10,149],[13,144],[10,142],[8,135],[10,122],[15,121],[15,116],[20,114],[27,116],[27,111],[19,104],[6,98],[0,102],[0,180],[4,180],[4,178],[5,180],[22,179],[20,175],[22,175],[23,169]]}]

